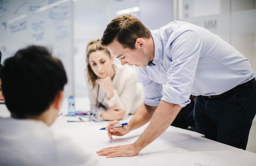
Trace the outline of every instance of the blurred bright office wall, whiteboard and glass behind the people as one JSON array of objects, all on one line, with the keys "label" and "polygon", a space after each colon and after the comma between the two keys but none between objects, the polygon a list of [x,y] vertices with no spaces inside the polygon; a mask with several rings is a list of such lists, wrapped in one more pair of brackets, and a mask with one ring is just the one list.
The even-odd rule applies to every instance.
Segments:
[{"label": "blurred bright office wall, whiteboard and glass behind the people", "polygon": [[[86,45],[101,38],[114,17],[127,12],[149,29],[174,20],[202,26],[244,54],[256,71],[256,0],[1,0],[2,60],[29,44],[45,45],[66,68],[65,96],[87,96]],[[252,138],[255,120],[247,150],[256,153]]]}]

